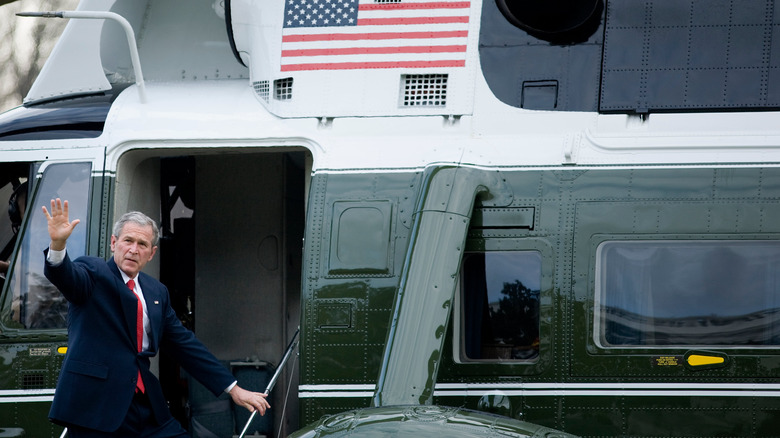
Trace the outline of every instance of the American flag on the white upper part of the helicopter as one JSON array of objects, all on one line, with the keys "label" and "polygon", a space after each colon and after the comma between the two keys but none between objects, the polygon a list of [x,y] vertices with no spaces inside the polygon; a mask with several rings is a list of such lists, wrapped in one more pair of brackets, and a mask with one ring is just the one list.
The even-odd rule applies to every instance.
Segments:
[{"label": "American flag on the white upper part of the helicopter", "polygon": [[469,1],[288,0],[282,71],[466,65]]}]

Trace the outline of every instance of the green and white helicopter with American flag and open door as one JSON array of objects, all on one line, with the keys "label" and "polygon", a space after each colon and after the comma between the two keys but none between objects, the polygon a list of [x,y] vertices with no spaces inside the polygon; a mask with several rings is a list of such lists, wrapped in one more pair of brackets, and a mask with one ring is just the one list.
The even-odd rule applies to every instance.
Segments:
[{"label": "green and white helicopter with American flag and open door", "polygon": [[[776,435],[773,1],[24,15],[69,22],[0,114],[0,196],[30,207],[0,219],[0,436],[62,433],[53,197],[84,225],[74,257],[108,257],[125,211],[159,221],[146,272],[242,387],[300,327],[249,436]],[[193,436],[241,431],[155,367]]]}]

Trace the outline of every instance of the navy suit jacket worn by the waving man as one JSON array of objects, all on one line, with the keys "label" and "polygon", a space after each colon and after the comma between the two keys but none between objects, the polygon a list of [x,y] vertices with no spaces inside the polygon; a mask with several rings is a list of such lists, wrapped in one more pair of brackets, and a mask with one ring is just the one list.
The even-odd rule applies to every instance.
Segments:
[{"label": "navy suit jacket worn by the waving man", "polygon": [[228,370],[185,328],[170,305],[168,289],[149,275],[136,279],[143,290],[151,333],[149,349],[138,353],[135,294],[124,284],[114,259],[65,257],[48,262],[44,274],[70,303],[68,352],[62,364],[49,418],[111,432],[119,428],[135,393],[138,370],[162,424],[171,418],[149,358],[162,348],[218,396],[235,381]]}]

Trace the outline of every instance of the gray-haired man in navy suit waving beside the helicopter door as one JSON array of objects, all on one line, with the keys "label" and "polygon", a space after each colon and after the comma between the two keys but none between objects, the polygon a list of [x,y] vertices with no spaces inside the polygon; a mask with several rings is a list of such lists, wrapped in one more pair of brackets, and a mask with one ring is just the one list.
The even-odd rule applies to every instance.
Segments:
[{"label": "gray-haired man in navy suit waving beside the helicopter door", "polygon": [[187,437],[171,416],[149,358],[160,348],[215,395],[265,414],[265,394],[244,390],[182,326],[168,290],[141,272],[157,251],[155,222],[139,212],[123,215],[111,236],[112,259],[71,261],[65,244],[79,223],[68,201],[51,201],[51,244],[44,273],[70,303],[68,353],[49,417],[80,437]]}]

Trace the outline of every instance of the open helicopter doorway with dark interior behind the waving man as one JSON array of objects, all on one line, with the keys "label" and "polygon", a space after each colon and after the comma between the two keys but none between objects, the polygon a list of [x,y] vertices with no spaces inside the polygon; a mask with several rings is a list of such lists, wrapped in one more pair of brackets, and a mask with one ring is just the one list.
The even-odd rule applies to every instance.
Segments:
[{"label": "open helicopter doorway with dark interior behind the waving man", "polygon": [[[119,163],[114,216],[135,209],[159,217],[147,273],[168,287],[182,323],[239,385],[263,392],[299,324],[307,152],[131,157]],[[294,369],[287,364],[269,398],[273,412],[254,419],[248,435],[297,428]],[[250,413],[227,394],[215,398],[163,351],[159,376],[193,437],[241,432]]]}]

